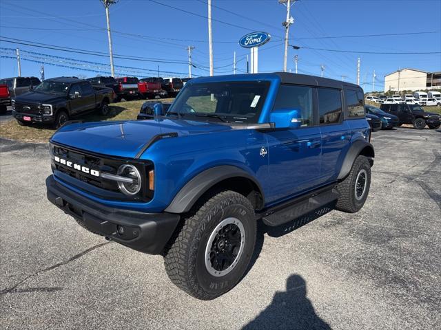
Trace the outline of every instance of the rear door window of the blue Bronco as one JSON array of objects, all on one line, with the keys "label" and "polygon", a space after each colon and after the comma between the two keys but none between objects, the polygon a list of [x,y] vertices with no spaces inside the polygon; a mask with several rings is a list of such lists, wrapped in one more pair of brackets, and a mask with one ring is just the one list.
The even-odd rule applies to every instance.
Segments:
[{"label": "rear door window of the blue Bronco", "polygon": [[[320,124],[334,124],[342,118],[342,96],[340,89],[318,88],[318,112]],[[365,111],[363,111],[363,114]]]}]

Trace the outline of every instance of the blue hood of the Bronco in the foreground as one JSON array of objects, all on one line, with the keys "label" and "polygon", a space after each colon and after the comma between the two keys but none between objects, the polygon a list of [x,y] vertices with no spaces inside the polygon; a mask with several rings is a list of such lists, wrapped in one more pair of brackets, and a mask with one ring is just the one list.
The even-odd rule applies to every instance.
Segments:
[{"label": "blue hood of the Bronco in the foreground", "polygon": [[192,120],[90,122],[63,126],[51,141],[101,155],[134,158],[157,134],[186,136],[229,130],[232,128],[225,124]]}]

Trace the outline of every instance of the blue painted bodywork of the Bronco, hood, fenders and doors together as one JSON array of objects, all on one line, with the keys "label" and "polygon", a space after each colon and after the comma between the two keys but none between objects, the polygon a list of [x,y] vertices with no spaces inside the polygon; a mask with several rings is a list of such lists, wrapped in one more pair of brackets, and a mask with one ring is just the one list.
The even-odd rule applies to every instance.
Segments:
[{"label": "blue painted bodywork of the Bronco, hood, fenders and doors together", "polygon": [[[235,80],[270,82],[258,119],[259,123],[269,122],[280,85],[280,78],[274,74],[196,78],[187,85]],[[275,131],[238,128],[223,122],[156,119],[70,124],[59,129],[52,141],[90,153],[131,159],[154,135],[172,132],[178,136],[158,140],[141,155],[141,159],[152,161],[155,169],[154,197],[148,202],[103,200],[55,179],[107,206],[162,212],[190,179],[209,168],[229,165],[245,170],[260,183],[268,207],[335,181],[351,143],[367,141],[370,134],[365,118]],[[260,154],[262,148],[266,155]]]}]

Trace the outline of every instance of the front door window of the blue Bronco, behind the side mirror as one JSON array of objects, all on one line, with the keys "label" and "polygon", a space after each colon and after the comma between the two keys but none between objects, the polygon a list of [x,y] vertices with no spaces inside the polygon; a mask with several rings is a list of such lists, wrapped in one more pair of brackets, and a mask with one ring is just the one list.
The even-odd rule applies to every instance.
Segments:
[{"label": "front door window of the blue Bronco, behind the side mirror", "polygon": [[294,85],[280,85],[274,102],[274,109],[299,109],[302,123],[312,126],[312,88]]}]

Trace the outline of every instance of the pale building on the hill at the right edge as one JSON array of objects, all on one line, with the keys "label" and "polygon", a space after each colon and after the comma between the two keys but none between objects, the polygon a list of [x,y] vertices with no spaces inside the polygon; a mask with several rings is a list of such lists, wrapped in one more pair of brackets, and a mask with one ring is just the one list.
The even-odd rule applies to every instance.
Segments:
[{"label": "pale building on the hill at the right edge", "polygon": [[441,89],[441,72],[400,69],[384,76],[384,91]]}]

